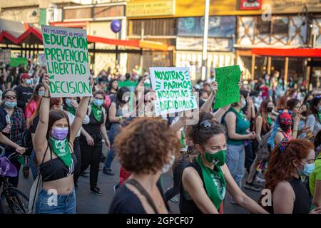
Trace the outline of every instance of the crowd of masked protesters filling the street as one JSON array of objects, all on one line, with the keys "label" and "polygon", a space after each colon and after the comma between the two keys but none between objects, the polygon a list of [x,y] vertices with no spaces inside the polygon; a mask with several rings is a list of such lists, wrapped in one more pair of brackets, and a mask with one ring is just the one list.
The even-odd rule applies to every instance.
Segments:
[{"label": "crowd of masked protesters filling the street", "polygon": [[[30,61],[1,68],[0,143],[4,156],[19,155],[10,162],[25,178],[31,170],[33,212],[76,213],[78,177],[88,167],[88,191],[103,195],[104,162],[103,174],[119,173],[115,195],[104,196],[113,198],[109,213],[168,213],[168,200],[183,214],[223,213],[227,202],[252,213],[321,213],[320,95],[275,71],[240,81],[240,100],[216,110],[220,88],[211,76],[193,88],[198,109],[156,117],[156,96],[142,72],[108,69],[91,77],[92,97],[51,98],[45,68]],[[114,158],[120,170],[111,170]],[[163,191],[166,172],[173,172],[173,187]],[[8,181],[19,187],[19,174]],[[243,189],[270,190],[272,203]]]}]

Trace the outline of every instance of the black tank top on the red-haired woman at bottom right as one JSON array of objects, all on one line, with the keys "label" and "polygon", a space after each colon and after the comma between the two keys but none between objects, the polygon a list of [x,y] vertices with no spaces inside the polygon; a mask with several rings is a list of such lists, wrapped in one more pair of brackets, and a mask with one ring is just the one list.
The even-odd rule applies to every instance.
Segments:
[{"label": "black tank top on the red-haired woman at bottom right", "polygon": [[[292,214],[309,214],[312,200],[309,197],[309,193],[302,180],[292,177],[292,179],[287,182],[289,182],[295,192],[295,202],[293,204]],[[272,212],[273,211],[274,209],[272,209]]]}]

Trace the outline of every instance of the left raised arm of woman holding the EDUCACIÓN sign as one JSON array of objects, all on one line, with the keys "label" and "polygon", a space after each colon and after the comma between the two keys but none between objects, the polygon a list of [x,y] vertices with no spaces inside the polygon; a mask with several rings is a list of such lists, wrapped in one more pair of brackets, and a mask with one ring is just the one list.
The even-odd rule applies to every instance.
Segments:
[{"label": "left raised arm of woman holding the EDUCACI\u00d3N sign", "polygon": [[34,151],[45,152],[47,147],[46,135],[48,131],[49,109],[50,109],[50,91],[49,91],[49,75],[44,74],[45,95],[41,98],[39,109],[39,123],[34,136]]}]

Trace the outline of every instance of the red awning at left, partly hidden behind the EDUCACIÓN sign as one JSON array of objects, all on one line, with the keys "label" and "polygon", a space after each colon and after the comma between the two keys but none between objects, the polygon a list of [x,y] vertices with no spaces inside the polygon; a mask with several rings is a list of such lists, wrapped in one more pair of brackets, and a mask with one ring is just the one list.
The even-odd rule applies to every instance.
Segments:
[{"label": "red awning at left, partly hidden behind the EDUCACI\u00d3N sign", "polygon": [[[163,43],[153,42],[153,41],[139,41],[139,40],[117,40],[112,38],[103,38],[98,36],[87,36],[88,43],[106,43],[116,46],[128,46],[135,48],[148,48],[157,51],[168,51],[168,46]],[[22,33],[18,38],[13,36],[7,31],[1,31],[0,33],[0,43],[9,43],[21,45],[22,43],[42,43],[42,34],[36,28],[28,28],[24,33]]]}]

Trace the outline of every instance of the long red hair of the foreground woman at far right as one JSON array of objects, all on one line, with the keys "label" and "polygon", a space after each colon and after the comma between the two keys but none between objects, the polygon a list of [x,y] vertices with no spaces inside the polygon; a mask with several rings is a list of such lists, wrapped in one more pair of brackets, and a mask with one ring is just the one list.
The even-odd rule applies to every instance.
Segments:
[{"label": "long red hair of the foreground woman at far right", "polygon": [[314,149],[315,146],[304,139],[290,140],[283,152],[280,152],[278,146],[275,146],[270,155],[269,165],[265,175],[265,188],[273,192],[278,183],[290,180],[296,169],[293,161],[305,159],[305,157],[309,155],[309,151]]}]

